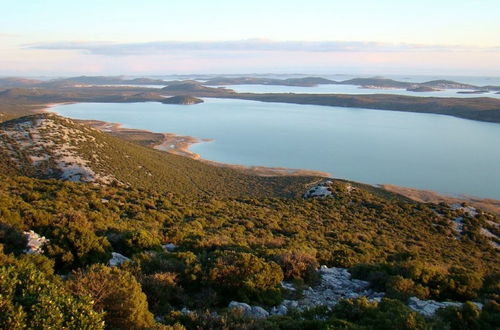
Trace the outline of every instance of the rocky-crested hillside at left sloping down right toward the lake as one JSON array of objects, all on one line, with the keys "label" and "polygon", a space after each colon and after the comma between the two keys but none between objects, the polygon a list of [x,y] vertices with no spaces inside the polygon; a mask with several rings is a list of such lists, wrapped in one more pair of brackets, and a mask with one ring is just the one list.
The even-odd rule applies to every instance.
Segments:
[{"label": "rocky-crested hillside at left sloping down right toward the lake", "polygon": [[9,171],[38,178],[220,196],[293,196],[316,180],[244,175],[125,142],[52,114],[1,123],[0,139],[2,158],[16,164]]}]

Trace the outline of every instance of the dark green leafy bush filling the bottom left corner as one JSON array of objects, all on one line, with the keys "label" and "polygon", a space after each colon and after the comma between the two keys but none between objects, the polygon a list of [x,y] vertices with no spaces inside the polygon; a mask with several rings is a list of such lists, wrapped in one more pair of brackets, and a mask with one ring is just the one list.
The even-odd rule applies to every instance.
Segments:
[{"label": "dark green leafy bush filling the bottom left corner", "polygon": [[103,329],[87,296],[68,292],[29,258],[0,268],[0,328]]}]

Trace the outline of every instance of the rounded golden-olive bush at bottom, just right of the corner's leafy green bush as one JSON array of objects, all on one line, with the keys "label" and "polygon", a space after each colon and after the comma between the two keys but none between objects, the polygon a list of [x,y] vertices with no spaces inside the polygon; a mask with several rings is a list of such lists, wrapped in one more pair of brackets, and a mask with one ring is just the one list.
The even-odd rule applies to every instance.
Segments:
[{"label": "rounded golden-olive bush at bottom, just right of the corner's leafy green bush", "polygon": [[74,272],[68,286],[79,296],[92,297],[94,309],[105,312],[107,327],[143,329],[154,325],[146,296],[127,271],[95,264]]}]

